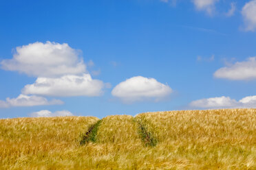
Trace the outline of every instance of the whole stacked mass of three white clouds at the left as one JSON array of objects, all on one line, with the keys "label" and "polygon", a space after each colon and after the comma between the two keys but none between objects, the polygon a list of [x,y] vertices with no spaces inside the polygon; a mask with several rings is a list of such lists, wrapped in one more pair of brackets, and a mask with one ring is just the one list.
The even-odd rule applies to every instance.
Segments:
[{"label": "whole stacked mass of three white clouds at the left", "polygon": [[[47,101],[44,97],[36,95],[61,97],[101,95],[107,85],[100,80],[92,79],[79,53],[80,51],[72,49],[66,43],[50,41],[17,47],[12,59],[0,62],[1,69],[35,76],[36,82],[27,84],[22,90],[23,95],[19,95],[16,99],[7,98],[6,101],[0,101],[0,108],[63,103],[56,99]],[[89,60],[87,66],[94,66],[94,62]],[[93,73],[99,74],[100,70]]]}]

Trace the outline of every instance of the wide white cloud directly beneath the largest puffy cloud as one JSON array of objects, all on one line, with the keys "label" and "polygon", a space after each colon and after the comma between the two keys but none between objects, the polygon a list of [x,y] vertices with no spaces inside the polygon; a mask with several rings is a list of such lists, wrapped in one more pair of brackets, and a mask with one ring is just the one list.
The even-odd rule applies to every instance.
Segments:
[{"label": "wide white cloud directly beneath the largest puffy cloud", "polygon": [[38,77],[34,84],[26,85],[22,93],[25,95],[47,96],[99,96],[105,84],[100,80],[92,80],[91,75],[63,75],[57,78]]}]

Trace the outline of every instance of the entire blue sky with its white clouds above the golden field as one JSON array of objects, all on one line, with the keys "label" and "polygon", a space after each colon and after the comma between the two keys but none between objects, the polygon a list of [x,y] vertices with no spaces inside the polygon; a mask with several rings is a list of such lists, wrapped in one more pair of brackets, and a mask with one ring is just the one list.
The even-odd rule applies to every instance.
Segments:
[{"label": "entire blue sky with its white clouds above the golden field", "polygon": [[0,22],[0,118],[256,107],[255,0],[3,0]]}]

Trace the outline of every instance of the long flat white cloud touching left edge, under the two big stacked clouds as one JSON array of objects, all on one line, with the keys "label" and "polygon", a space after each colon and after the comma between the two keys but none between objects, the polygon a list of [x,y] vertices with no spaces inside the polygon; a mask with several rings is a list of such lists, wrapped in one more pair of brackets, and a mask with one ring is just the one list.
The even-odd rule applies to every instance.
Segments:
[{"label": "long flat white cloud touching left edge, under the two big stacked clouds", "polygon": [[0,101],[0,108],[10,108],[19,106],[43,106],[43,105],[56,105],[63,104],[63,101],[58,99],[52,99],[48,101],[44,97],[35,95],[19,95],[17,98],[6,98],[6,101]]}]

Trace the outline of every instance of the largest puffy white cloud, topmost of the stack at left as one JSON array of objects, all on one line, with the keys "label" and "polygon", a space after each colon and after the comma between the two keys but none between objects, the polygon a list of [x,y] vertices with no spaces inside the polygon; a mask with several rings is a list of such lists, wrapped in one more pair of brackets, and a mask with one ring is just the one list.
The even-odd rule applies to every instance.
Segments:
[{"label": "largest puffy white cloud, topmost of the stack at left", "polygon": [[1,61],[1,68],[35,77],[55,77],[85,72],[78,51],[66,43],[34,42],[16,48],[13,58]]}]

